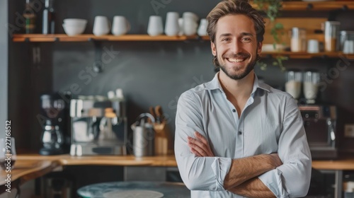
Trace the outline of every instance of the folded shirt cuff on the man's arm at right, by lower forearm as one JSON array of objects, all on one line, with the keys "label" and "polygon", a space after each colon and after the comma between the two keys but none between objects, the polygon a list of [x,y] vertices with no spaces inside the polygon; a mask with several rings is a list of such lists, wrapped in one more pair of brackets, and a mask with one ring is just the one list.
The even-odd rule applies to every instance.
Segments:
[{"label": "folded shirt cuff on the man's arm at right, by lower forearm", "polygon": [[284,187],[282,187],[282,172],[278,169],[270,170],[258,178],[263,182],[263,184],[269,188],[276,197],[287,198],[289,193],[286,192]]}]

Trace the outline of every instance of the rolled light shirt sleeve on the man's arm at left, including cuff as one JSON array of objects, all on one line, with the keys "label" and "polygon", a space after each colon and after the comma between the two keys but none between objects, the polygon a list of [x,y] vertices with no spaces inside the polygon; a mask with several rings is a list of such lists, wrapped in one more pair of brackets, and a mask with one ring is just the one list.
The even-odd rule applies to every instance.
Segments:
[{"label": "rolled light shirt sleeve on the man's arm at left, including cuff", "polygon": [[197,157],[190,152],[188,136],[202,129],[200,103],[192,92],[185,92],[178,100],[176,114],[175,155],[178,170],[190,190],[224,190],[224,177],[229,172],[231,158]]}]

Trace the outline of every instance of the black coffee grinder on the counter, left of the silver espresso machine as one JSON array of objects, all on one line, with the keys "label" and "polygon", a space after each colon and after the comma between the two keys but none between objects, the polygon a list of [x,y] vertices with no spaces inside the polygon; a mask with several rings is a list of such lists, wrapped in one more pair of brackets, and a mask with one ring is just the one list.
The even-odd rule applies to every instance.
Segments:
[{"label": "black coffee grinder on the counter, left of the silver espresso machine", "polygon": [[69,153],[69,105],[70,95],[50,93],[40,96],[40,124],[42,124],[40,154],[45,156]]}]

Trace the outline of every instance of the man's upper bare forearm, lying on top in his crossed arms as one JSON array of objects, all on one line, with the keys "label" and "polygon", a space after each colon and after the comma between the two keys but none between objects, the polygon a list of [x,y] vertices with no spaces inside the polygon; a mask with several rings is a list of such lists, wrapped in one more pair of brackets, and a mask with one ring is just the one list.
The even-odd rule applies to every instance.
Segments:
[{"label": "man's upper bare forearm, lying on top in his crossed arms", "polygon": [[232,160],[229,173],[227,173],[224,179],[224,188],[229,190],[241,185],[243,182],[253,177],[273,170],[280,164],[281,161],[276,161],[273,154],[261,154],[258,156],[234,159]]}]

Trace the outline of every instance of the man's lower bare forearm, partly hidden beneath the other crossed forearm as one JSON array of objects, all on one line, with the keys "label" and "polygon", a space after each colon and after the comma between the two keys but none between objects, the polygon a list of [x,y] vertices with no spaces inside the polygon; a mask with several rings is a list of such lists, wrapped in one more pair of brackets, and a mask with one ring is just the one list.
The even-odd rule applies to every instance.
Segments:
[{"label": "man's lower bare forearm, partly hidden beneath the other crossed forearm", "polygon": [[266,187],[258,177],[254,177],[251,180],[247,180],[243,182],[241,185],[237,187],[233,187],[229,189],[229,192],[234,194],[239,194],[244,197],[261,197],[261,198],[268,198],[268,197],[275,197],[273,192]]}]

